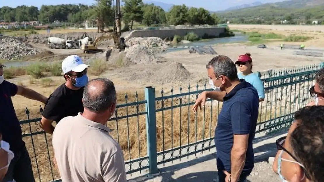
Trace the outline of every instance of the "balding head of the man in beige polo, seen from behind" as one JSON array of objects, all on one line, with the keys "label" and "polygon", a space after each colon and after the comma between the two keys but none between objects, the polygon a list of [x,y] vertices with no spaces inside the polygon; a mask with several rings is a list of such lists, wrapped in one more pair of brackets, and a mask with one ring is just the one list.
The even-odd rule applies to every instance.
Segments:
[{"label": "balding head of the man in beige polo, seen from behind", "polygon": [[[95,87],[95,89],[90,89]],[[92,112],[107,111],[112,103],[116,102],[116,89],[114,83],[106,78],[90,80],[84,88],[83,106]]]}]

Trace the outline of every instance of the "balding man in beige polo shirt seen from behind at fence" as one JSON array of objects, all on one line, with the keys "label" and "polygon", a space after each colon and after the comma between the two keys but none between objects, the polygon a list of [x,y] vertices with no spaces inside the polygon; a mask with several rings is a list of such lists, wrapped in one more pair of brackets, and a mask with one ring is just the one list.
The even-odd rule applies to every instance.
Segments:
[{"label": "balding man in beige polo shirt seen from behind at fence", "polygon": [[116,109],[112,81],[89,81],[83,94],[84,112],[63,118],[53,132],[53,148],[63,182],[126,182],[120,145],[104,124]]}]

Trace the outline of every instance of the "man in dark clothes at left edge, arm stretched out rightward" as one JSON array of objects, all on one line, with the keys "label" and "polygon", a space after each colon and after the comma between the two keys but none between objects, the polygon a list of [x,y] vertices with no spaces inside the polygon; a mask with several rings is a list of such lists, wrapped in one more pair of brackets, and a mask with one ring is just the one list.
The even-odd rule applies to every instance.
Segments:
[{"label": "man in dark clothes at left edge, arm stretched out rightward", "polygon": [[45,103],[47,98],[23,86],[4,80],[4,65],[0,64],[0,133],[3,141],[9,143],[14,158],[8,167],[3,181],[34,182],[33,170],[21,127],[17,119],[11,97],[16,94]]}]

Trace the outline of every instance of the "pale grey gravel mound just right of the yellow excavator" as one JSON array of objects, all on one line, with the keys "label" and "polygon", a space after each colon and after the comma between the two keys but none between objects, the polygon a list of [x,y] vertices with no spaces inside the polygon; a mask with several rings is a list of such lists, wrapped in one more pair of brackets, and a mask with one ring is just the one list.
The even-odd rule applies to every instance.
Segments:
[{"label": "pale grey gravel mound just right of the yellow excavator", "polygon": [[166,61],[163,57],[155,55],[152,49],[139,44],[130,46],[125,52],[126,59],[134,64],[154,64]]}]

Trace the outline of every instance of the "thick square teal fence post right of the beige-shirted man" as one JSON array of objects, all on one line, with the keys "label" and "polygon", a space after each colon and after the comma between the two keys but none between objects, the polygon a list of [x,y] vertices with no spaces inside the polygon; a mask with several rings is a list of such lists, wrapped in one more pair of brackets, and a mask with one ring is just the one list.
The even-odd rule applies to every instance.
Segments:
[{"label": "thick square teal fence post right of the beige-shirted man", "polygon": [[146,109],[146,141],[147,155],[149,158],[150,174],[158,173],[156,154],[156,113],[155,113],[155,88],[145,87]]}]

